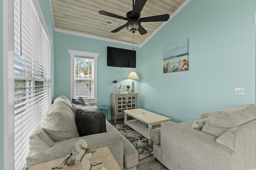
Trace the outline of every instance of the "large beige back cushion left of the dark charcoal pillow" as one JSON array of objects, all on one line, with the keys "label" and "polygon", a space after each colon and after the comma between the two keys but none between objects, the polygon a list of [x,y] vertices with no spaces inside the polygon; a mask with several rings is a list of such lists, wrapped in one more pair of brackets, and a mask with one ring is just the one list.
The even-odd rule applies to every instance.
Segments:
[{"label": "large beige back cushion left of the dark charcoal pillow", "polygon": [[75,115],[63,101],[57,101],[44,113],[41,127],[54,141],[79,137]]}]

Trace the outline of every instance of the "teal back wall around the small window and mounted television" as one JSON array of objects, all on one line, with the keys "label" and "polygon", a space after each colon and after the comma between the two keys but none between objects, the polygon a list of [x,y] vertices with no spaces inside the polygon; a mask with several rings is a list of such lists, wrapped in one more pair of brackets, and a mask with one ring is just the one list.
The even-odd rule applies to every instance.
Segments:
[{"label": "teal back wall around the small window and mounted television", "polygon": [[[123,49],[131,49],[132,46],[79,37],[66,33],[55,32],[54,35],[54,92],[55,98],[58,95],[65,95],[70,99],[70,55],[68,49],[100,53],[98,57],[98,103],[92,105],[110,105],[110,93],[113,92],[113,80],[118,78],[116,84],[131,85],[131,80],[126,80],[131,71],[136,71],[140,78],[140,52],[136,50],[136,68],[119,68],[107,66],[107,46]],[[135,89],[139,92],[140,80],[135,80]]]}]

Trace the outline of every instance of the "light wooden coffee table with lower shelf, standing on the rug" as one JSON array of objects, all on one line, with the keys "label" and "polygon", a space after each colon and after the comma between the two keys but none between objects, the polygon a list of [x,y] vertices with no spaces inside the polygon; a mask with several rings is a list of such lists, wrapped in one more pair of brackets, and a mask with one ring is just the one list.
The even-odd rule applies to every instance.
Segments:
[{"label": "light wooden coffee table with lower shelf, standing on the rug", "polygon": [[[144,113],[144,114],[142,114]],[[127,121],[127,115],[134,117],[134,120]],[[142,125],[137,123],[137,120],[142,121],[148,125],[148,128],[143,127]],[[162,115],[158,115],[151,111],[147,111],[144,109],[129,109],[124,110],[124,124],[130,126],[132,129],[140,133],[140,135],[146,137],[148,139],[148,143],[152,143],[150,139],[152,126],[160,124],[164,121],[169,121],[169,117],[165,117]]]}]

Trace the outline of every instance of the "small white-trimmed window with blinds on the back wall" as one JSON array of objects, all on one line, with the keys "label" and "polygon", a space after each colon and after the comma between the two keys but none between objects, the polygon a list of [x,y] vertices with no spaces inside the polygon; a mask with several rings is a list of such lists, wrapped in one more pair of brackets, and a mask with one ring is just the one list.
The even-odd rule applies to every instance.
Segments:
[{"label": "small white-trimmed window with blinds on the back wall", "polygon": [[99,53],[68,49],[70,54],[70,98],[83,97],[97,103],[97,59]]}]

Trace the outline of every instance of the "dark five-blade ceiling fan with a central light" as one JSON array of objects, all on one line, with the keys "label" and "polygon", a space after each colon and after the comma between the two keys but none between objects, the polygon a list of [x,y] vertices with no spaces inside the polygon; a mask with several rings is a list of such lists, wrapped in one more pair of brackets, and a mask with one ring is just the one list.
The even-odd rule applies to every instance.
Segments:
[{"label": "dark five-blade ceiling fan with a central light", "polygon": [[164,14],[159,16],[140,18],[140,12],[146,2],[147,0],[136,0],[134,4],[134,0],[132,0],[132,11],[127,12],[126,17],[118,16],[116,14],[112,14],[103,10],[100,10],[99,14],[119,18],[121,20],[127,20],[126,24],[114,29],[113,31],[111,31],[112,33],[116,33],[126,27],[128,31],[131,31],[132,33],[135,33],[138,30],[140,35],[144,35],[148,31],[146,31],[146,29],[142,27],[141,22],[167,21],[170,17],[169,14]]}]

